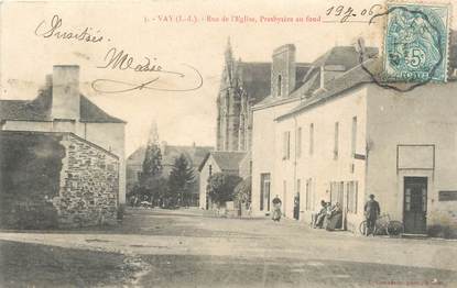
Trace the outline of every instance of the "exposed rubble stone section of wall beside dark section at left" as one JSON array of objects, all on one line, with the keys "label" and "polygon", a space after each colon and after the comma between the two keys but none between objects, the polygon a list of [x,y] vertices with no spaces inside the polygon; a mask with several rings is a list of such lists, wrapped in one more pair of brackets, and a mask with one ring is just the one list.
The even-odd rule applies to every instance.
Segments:
[{"label": "exposed rubble stone section of wall beside dark section at left", "polygon": [[117,221],[119,160],[113,154],[66,134],[59,196],[53,199],[61,228],[113,224]]}]

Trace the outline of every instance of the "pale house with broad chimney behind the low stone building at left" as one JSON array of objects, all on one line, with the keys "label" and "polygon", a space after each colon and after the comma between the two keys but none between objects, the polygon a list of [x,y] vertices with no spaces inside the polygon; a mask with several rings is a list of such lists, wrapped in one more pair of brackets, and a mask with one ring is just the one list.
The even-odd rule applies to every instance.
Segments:
[{"label": "pale house with broad chimney behind the low stone building at left", "polygon": [[119,203],[126,202],[124,126],[79,92],[79,66],[54,66],[33,100],[0,100],[2,131],[69,132],[117,155]]}]

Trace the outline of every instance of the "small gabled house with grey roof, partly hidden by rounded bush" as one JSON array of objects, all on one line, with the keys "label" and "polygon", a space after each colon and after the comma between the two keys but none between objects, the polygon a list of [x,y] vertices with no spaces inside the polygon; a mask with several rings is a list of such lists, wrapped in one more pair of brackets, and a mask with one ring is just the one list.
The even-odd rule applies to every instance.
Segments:
[{"label": "small gabled house with grey roof, partly hidden by rounded bush", "polygon": [[240,163],[246,157],[244,152],[225,152],[215,151],[208,153],[198,167],[200,174],[199,184],[199,207],[209,209],[211,201],[207,196],[206,187],[208,179],[215,173],[224,173],[229,175],[240,175]]}]

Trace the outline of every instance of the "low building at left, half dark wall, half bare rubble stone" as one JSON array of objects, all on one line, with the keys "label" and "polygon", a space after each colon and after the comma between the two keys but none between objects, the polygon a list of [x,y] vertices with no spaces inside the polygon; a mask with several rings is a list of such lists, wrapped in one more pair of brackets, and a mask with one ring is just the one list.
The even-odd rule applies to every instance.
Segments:
[{"label": "low building at left, half dark wall, half bare rubble stone", "polygon": [[0,131],[0,226],[117,222],[119,157],[70,132]]}]

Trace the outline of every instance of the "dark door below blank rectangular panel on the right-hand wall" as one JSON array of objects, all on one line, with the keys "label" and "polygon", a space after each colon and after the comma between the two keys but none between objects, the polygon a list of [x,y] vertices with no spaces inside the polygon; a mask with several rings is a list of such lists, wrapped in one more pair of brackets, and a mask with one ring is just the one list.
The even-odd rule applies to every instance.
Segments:
[{"label": "dark door below blank rectangular panel on the right-hand wall", "polygon": [[404,177],[404,231],[412,234],[426,232],[427,177]]}]

